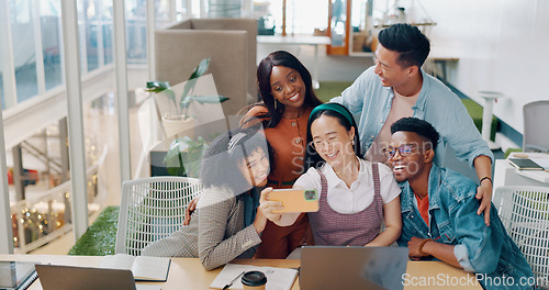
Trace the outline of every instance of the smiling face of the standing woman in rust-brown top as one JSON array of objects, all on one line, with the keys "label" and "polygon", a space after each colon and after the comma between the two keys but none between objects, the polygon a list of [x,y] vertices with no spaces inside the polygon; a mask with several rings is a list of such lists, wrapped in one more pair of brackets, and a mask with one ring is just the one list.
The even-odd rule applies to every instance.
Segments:
[{"label": "smiling face of the standing woman in rust-brown top", "polygon": [[305,83],[293,68],[273,66],[270,77],[271,94],[287,109],[300,109],[305,102]]}]

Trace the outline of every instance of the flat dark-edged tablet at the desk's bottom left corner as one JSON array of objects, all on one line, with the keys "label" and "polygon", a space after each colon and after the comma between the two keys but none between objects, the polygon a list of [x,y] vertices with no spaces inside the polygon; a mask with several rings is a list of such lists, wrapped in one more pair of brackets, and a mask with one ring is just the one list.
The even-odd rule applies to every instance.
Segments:
[{"label": "flat dark-edged tablet at the desk's bottom left corner", "polygon": [[35,263],[0,261],[0,289],[24,290],[36,280]]}]

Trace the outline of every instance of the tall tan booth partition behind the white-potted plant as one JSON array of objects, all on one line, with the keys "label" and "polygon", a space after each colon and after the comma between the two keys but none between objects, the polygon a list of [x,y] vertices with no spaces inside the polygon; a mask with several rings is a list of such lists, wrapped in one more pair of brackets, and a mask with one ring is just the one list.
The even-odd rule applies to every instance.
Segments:
[{"label": "tall tan booth partition behind the white-potted plant", "polygon": [[170,85],[187,81],[194,67],[210,57],[212,74],[226,115],[257,101],[257,20],[188,19],[155,31],[156,78]]}]

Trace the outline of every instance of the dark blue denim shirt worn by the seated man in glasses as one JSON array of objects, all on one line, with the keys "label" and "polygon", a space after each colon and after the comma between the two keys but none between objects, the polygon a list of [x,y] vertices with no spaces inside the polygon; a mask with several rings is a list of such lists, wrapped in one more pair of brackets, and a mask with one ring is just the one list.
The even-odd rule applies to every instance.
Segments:
[{"label": "dark blue denim shirt worn by the seated man in glasses", "polygon": [[479,201],[474,198],[477,185],[469,178],[433,164],[429,172],[429,226],[414,204],[414,192],[407,181],[401,183],[402,235],[397,243],[417,236],[437,243],[455,245],[453,254],[464,270],[483,277],[513,277],[514,287],[497,287],[479,282],[485,289],[531,289],[518,287],[524,277],[534,277],[523,254],[505,232],[492,204],[490,226],[478,215]]}]

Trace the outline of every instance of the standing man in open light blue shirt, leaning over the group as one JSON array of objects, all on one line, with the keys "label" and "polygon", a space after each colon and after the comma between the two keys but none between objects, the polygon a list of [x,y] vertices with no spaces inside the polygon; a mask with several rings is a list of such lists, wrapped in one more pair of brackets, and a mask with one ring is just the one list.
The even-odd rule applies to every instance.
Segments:
[{"label": "standing man in open light blue shirt, leaning over the group", "polygon": [[429,40],[417,27],[402,23],[382,30],[378,38],[376,65],[332,99],[360,115],[357,123],[366,158],[385,161],[381,149],[391,140],[394,121],[405,116],[428,121],[440,133],[438,166],[447,145],[459,159],[474,166],[480,180],[477,198],[482,198],[478,214],[484,211],[490,224],[493,154],[458,96],[421,69],[430,51]]}]

